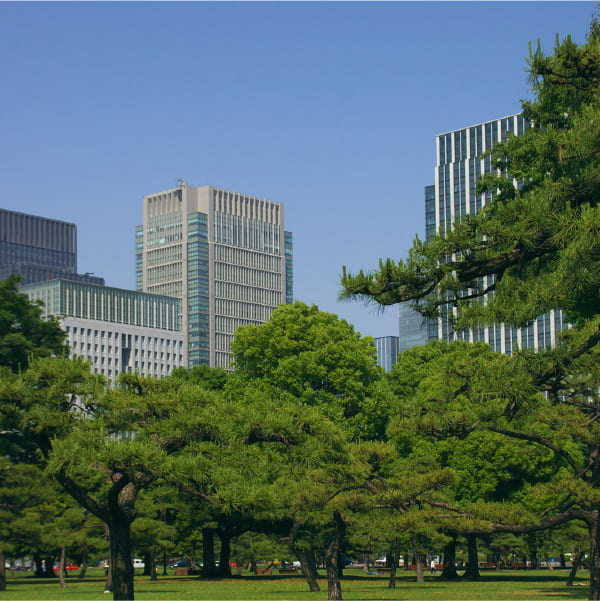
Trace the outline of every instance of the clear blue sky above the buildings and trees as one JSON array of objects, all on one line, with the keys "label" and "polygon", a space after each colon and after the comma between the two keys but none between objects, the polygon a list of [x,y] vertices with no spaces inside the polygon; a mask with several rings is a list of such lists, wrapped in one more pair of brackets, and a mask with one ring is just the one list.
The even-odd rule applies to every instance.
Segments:
[{"label": "clear blue sky above the buildings and trees", "polygon": [[142,197],[213,185],[285,205],[295,297],[423,235],[435,135],[527,97],[528,43],[596,2],[0,2],[2,208],[77,224],[79,271],[135,288]]}]

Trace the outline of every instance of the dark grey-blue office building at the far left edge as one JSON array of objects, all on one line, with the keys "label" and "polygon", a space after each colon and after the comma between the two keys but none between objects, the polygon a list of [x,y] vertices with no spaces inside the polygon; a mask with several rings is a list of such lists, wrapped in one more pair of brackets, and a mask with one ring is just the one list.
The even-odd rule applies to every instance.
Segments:
[{"label": "dark grey-blue office building at the far left edge", "polygon": [[104,284],[77,273],[77,227],[56,219],[0,209],[0,279],[12,273],[25,284],[64,278]]}]

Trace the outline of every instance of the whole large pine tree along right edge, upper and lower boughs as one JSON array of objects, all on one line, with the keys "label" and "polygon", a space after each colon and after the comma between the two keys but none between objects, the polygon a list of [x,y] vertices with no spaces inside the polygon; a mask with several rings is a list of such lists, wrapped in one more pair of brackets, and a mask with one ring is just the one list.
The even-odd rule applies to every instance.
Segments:
[{"label": "whole large pine tree along right edge, upper and lower boughs", "polygon": [[[410,301],[424,316],[454,316],[455,329],[525,326],[552,309],[565,313],[572,328],[556,348],[522,350],[510,359],[480,348],[470,361],[457,355],[450,363],[429,362],[430,389],[424,395],[417,389],[411,402],[425,401],[422,421],[432,432],[485,428],[545,450],[553,472],[536,483],[537,500],[523,498],[528,519],[537,527],[569,519],[587,524],[590,599],[598,599],[598,19],[584,45],[557,38],[545,55],[538,44],[528,64],[534,98],[523,102],[523,114],[531,127],[490,151],[494,172],[476,191],[492,199],[427,242],[417,238],[405,261],[381,260],[378,270],[356,275],[344,270],[341,296],[380,305]],[[443,402],[436,406],[436,399]]]}]

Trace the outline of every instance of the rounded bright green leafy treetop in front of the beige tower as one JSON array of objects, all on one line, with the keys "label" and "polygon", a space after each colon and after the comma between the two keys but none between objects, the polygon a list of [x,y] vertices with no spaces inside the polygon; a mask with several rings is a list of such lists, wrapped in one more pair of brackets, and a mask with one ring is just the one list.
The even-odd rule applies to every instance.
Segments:
[{"label": "rounded bright green leafy treetop in front of the beige tower", "polygon": [[319,407],[356,438],[372,436],[365,407],[381,374],[375,346],[336,315],[300,302],[282,305],[267,323],[239,328],[232,352],[236,379]]}]

